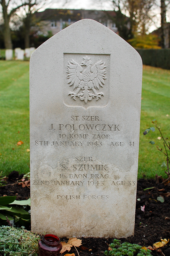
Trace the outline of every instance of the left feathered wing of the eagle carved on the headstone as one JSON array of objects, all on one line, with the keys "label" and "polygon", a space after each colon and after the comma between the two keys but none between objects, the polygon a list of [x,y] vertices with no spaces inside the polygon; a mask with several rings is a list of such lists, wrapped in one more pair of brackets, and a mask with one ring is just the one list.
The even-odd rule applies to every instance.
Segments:
[{"label": "left feathered wing of the eagle carved on the headstone", "polygon": [[73,59],[71,61],[68,61],[67,65],[67,78],[69,86],[73,85],[73,90],[78,87],[81,80],[83,80],[82,72],[83,68],[80,66],[79,63],[74,61]]}]

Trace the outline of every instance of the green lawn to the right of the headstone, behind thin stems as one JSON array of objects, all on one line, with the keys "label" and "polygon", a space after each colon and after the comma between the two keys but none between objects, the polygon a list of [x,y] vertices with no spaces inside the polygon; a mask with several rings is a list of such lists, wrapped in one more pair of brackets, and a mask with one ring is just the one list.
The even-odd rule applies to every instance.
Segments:
[{"label": "green lawn to the right of the headstone, behind thin stems", "polygon": [[[156,145],[163,147],[163,140],[157,139],[158,130],[145,136],[143,131],[152,127],[151,122],[156,119],[165,137],[170,137],[170,70],[143,66],[141,102],[138,177],[154,178],[155,174],[166,177],[165,169],[160,167],[166,158],[156,148]],[[151,145],[150,141],[155,144]]]}]

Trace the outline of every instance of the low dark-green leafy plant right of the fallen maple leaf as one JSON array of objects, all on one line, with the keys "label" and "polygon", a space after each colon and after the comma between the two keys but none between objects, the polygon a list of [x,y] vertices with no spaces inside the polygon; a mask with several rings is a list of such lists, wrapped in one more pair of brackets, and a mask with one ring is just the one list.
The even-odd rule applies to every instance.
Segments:
[{"label": "low dark-green leafy plant right of the fallen maple leaf", "polygon": [[150,250],[146,251],[138,244],[127,242],[121,244],[121,241],[117,239],[114,239],[109,246],[110,251],[104,252],[106,256],[152,256]]}]

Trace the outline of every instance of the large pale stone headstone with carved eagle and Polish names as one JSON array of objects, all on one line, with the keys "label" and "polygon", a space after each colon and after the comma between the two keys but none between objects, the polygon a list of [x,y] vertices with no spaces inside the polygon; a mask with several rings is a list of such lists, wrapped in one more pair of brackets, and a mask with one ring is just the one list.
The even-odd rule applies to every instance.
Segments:
[{"label": "large pale stone headstone with carved eagle and Polish names", "polygon": [[97,21],[30,60],[31,227],[60,237],[134,233],[142,61]]}]

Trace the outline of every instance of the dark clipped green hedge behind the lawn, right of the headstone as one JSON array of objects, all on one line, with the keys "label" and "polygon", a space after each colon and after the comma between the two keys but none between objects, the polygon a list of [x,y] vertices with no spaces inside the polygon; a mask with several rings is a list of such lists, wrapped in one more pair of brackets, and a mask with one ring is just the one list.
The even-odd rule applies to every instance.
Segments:
[{"label": "dark clipped green hedge behind the lawn, right of the headstone", "polygon": [[170,69],[170,49],[136,49],[144,65]]}]

